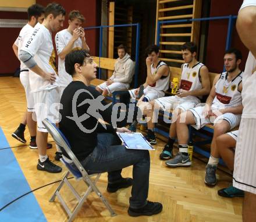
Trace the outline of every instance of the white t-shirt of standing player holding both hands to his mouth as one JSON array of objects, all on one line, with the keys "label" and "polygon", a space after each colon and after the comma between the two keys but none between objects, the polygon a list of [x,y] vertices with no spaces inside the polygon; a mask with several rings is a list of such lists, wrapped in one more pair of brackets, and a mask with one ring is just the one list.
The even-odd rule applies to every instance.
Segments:
[{"label": "white t-shirt of standing player holding both hands to his mouth", "polygon": [[[72,34],[64,29],[59,31],[55,35],[55,44],[57,49],[57,54],[62,52],[62,50],[66,47],[69,41],[72,38]],[[80,50],[82,48],[81,38],[78,38],[73,45],[73,50]],[[59,85],[62,87],[66,87],[69,83],[72,82],[72,77],[65,70],[65,59],[58,58],[58,71],[59,71]]]}]

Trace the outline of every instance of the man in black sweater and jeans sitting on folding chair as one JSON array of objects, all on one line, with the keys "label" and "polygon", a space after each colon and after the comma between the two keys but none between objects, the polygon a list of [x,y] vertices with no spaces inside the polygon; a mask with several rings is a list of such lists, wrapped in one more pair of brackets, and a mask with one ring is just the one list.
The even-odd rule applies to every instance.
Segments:
[{"label": "man in black sweater and jeans sitting on folding chair", "polygon": [[[129,132],[127,128],[114,129],[111,123],[112,106],[93,87],[90,81],[96,78],[97,65],[84,50],[66,55],[65,69],[73,77],[63,91],[59,128],[70,143],[74,155],[89,174],[108,172],[107,191],[129,187],[131,183],[130,216],[157,214],[161,203],[147,200],[150,173],[150,155],[145,150],[126,149],[120,145],[118,132]],[[65,151],[65,159],[69,157]],[[133,180],[122,178],[123,168],[133,165]]]}]

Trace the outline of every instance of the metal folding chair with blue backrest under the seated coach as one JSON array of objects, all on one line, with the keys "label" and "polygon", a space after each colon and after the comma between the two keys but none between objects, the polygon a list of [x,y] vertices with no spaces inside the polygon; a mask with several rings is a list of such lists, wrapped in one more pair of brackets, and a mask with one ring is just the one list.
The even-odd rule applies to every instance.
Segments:
[{"label": "metal folding chair with blue backrest under the seated coach", "polygon": [[[81,165],[81,163],[79,162],[77,157],[71,151],[69,142],[67,141],[65,135],[63,135],[62,132],[59,130],[59,128],[57,128],[55,126],[55,124],[51,123],[48,119],[43,120],[42,123],[44,124],[45,128],[47,128],[47,130],[48,130],[49,134],[51,134],[52,138],[54,138],[54,141],[56,142],[56,144],[61,146],[66,151],[67,155],[69,155],[69,157],[70,157],[70,160],[72,160],[73,164],[76,166],[76,167],[73,167],[72,164],[67,163],[65,161],[65,159],[63,159],[63,158],[61,159],[61,162],[63,164],[65,164],[65,166],[67,168],[67,173],[63,177],[62,181],[60,182],[58,188],[54,192],[54,195],[52,195],[49,202],[54,202],[54,200],[57,196],[59,201],[61,202],[62,206],[66,210],[66,213],[69,215],[68,221],[72,221],[76,217],[76,214],[79,212],[79,210],[80,210],[81,206],[83,205],[84,201],[86,200],[87,196],[90,194],[90,192],[94,191],[98,195],[99,199],[101,199],[101,201],[104,203],[106,208],[109,210],[109,212],[111,213],[111,216],[116,216],[112,207],[109,205],[108,201],[104,198],[104,196],[102,196],[101,192],[99,191],[99,189],[96,186],[96,182],[98,181],[101,174],[99,173],[99,174],[88,175],[87,171],[84,169],[84,167]],[[70,182],[67,180],[67,177],[69,176],[70,173],[73,174],[73,176],[76,178],[76,180],[83,180],[85,182],[85,184],[87,185],[88,188],[85,191],[83,196],[80,196],[77,193],[77,191],[74,189],[74,187],[70,184]],[[93,176],[96,176],[95,180],[91,179],[91,177],[93,177]],[[70,191],[73,193],[73,195],[78,200],[78,203],[77,203],[76,207],[73,209],[73,211],[69,209],[69,207],[66,205],[64,199],[61,196],[60,191],[64,184],[66,184],[67,187],[70,188]]]}]

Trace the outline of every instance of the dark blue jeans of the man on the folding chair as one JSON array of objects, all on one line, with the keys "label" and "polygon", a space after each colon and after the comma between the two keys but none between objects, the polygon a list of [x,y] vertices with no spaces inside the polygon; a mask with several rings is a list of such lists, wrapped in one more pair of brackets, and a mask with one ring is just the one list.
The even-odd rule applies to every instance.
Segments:
[{"label": "dark blue jeans of the man on the folding chair", "polygon": [[144,150],[126,149],[117,135],[98,134],[98,145],[81,161],[88,174],[108,173],[108,182],[121,178],[123,168],[133,165],[133,187],[130,207],[140,208],[147,204],[150,176],[150,153]]}]

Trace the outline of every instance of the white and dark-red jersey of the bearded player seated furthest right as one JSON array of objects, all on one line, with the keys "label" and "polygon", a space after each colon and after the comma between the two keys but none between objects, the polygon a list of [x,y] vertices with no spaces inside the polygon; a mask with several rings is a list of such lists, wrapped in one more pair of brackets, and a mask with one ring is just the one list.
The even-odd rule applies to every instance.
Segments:
[{"label": "white and dark-red jersey of the bearded player seated furthest right", "polygon": [[227,72],[223,72],[215,84],[216,96],[212,102],[212,109],[225,109],[239,106],[242,103],[241,92],[238,86],[242,81],[241,71],[232,81],[227,81]]}]

